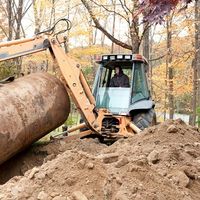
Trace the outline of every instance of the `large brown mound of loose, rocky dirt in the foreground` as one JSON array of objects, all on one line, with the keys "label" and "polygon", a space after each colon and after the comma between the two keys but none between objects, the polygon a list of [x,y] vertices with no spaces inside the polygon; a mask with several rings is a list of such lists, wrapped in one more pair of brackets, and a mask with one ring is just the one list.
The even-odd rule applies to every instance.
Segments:
[{"label": "large brown mound of loose, rocky dirt in the foreground", "polygon": [[92,139],[58,144],[59,153],[0,186],[0,199],[199,199],[200,133],[180,120],[109,147]]}]

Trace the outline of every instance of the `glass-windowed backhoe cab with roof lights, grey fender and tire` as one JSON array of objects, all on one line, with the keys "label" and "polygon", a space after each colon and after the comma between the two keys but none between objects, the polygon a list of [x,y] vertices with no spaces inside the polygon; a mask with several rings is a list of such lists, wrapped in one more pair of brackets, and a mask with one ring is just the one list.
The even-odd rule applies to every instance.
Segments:
[{"label": "glass-windowed backhoe cab with roof lights, grey fender and tire", "polygon": [[[156,118],[147,83],[146,59],[138,54],[103,55],[97,63],[99,68],[93,86],[96,109],[105,108],[113,115],[129,116],[140,129],[154,124]],[[118,66],[128,77],[129,87],[112,86]]]}]

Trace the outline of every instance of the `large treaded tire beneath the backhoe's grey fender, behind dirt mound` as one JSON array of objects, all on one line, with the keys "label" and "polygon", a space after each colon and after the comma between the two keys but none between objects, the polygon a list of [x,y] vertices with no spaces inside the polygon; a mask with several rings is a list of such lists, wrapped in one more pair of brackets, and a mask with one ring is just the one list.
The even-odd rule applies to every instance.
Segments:
[{"label": "large treaded tire beneath the backhoe's grey fender, behind dirt mound", "polygon": [[144,130],[156,125],[156,113],[153,108],[147,111],[142,110],[133,116],[132,121],[139,129]]}]

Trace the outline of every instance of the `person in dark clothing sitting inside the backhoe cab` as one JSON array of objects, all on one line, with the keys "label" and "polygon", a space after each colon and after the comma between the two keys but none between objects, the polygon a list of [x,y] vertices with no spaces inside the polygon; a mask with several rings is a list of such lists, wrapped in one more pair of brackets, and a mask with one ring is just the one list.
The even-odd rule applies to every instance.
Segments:
[{"label": "person in dark clothing sitting inside the backhoe cab", "polygon": [[130,87],[129,78],[124,74],[121,66],[116,66],[115,75],[110,81],[110,87]]}]

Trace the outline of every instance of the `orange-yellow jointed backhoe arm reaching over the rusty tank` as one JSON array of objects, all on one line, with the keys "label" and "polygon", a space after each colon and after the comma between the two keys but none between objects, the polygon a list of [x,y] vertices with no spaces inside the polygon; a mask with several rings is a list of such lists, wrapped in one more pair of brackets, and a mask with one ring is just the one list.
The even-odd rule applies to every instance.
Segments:
[{"label": "orange-yellow jointed backhoe arm reaching over the rusty tank", "polygon": [[[97,118],[94,110],[95,99],[79,65],[64,52],[61,47],[61,41],[64,42],[65,40],[48,35],[39,35],[30,39],[1,43],[0,62],[49,49],[53,59],[58,63],[63,76],[62,81],[77,109],[80,111],[87,126],[92,131],[97,132],[98,130],[94,125]],[[81,125],[81,127],[84,126],[84,124]]]}]

